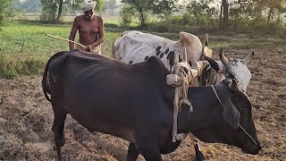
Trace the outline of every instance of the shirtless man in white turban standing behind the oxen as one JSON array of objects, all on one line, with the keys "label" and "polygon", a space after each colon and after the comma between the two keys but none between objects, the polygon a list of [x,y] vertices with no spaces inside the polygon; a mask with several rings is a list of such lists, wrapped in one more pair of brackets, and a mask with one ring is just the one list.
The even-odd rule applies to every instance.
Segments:
[{"label": "shirtless man in white turban standing behind the oxen", "polygon": [[[100,16],[94,14],[96,2],[88,1],[82,5],[83,15],[75,17],[71,28],[70,40],[74,41],[77,30],[80,34],[80,44],[76,48],[101,55],[100,44],[104,42],[104,23]],[[69,43],[70,50],[74,48],[73,43]]]}]

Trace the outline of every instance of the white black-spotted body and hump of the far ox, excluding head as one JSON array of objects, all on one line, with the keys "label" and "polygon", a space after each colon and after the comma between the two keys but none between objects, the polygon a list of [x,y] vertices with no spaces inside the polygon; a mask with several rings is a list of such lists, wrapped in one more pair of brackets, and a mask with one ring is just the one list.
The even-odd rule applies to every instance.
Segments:
[{"label": "white black-spotted body and hump of the far ox, excluding head", "polygon": [[180,32],[179,35],[181,39],[173,41],[137,30],[125,31],[121,38],[114,41],[114,58],[125,64],[137,64],[146,61],[152,55],[156,55],[170,70],[174,48],[179,48],[179,55],[182,57],[182,47],[186,47],[188,62],[194,64],[198,61],[202,51],[199,38],[187,32]]}]

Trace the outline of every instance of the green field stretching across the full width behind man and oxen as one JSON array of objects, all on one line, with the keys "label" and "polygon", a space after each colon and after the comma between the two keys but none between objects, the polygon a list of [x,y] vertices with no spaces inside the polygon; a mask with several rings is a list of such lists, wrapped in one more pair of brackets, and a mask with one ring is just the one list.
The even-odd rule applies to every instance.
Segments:
[{"label": "green field stretching across the full width behind man and oxen", "polygon": [[[46,33],[69,38],[70,31],[71,24],[41,24],[30,21],[13,21],[2,27],[0,31],[0,78],[13,79],[21,74],[31,75],[43,72],[46,61],[51,55],[69,50],[68,42],[46,37]],[[121,37],[123,31],[118,28],[105,28],[105,42],[102,44],[104,55],[112,55],[114,40]],[[179,32],[151,33],[172,40],[180,39]],[[285,40],[282,38],[256,38],[235,33],[223,37],[209,33],[209,36],[209,45],[214,51],[218,51],[220,47],[224,47],[225,50],[248,48],[255,50],[261,47],[285,45]],[[203,41],[203,34],[198,35],[198,38]],[[78,39],[78,34],[75,39]]]}]

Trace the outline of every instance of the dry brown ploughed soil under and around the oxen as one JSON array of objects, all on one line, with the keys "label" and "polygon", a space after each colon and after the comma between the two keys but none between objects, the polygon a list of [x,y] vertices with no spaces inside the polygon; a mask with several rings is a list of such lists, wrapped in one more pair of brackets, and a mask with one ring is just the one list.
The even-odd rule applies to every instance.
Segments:
[{"label": "dry brown ploughed soil under and around the oxen", "polygon": [[[252,50],[228,51],[243,58]],[[257,156],[240,148],[206,144],[202,148],[208,160],[286,160],[286,47],[255,49],[248,64],[252,79],[248,96],[263,145]],[[55,160],[51,132],[53,111],[43,96],[41,77],[0,80],[0,160]],[[124,160],[128,142],[102,133],[92,134],[68,116],[65,123],[64,160]],[[195,160],[189,140],[169,155],[166,161]],[[139,157],[138,160],[144,160]]]}]

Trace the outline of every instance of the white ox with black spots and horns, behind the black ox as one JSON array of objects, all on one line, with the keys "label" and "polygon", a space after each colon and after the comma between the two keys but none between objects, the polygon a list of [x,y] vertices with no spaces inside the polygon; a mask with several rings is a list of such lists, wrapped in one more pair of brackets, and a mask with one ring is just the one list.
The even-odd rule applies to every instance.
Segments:
[{"label": "white ox with black spots and horns, behind the black ox", "polygon": [[[181,59],[184,53],[183,47],[186,47],[189,64],[195,64],[201,58],[203,51],[203,46],[199,38],[187,32],[180,32],[179,36],[180,40],[173,41],[137,30],[125,31],[122,33],[122,37],[114,41],[113,56],[116,60],[125,64],[138,64],[147,61],[150,56],[156,55],[167,69],[171,70],[174,49],[179,49]],[[205,46],[208,44],[207,41],[206,37]],[[220,59],[222,61],[214,61],[209,58],[212,56],[212,50],[208,47],[204,47],[204,53],[209,64],[206,65],[201,78],[198,79],[200,85],[218,84],[226,76],[235,78],[238,81],[240,90],[246,91],[251,78],[246,64],[252,59],[254,53],[242,60],[236,58],[227,59],[223,55],[222,48],[220,51]]]}]

